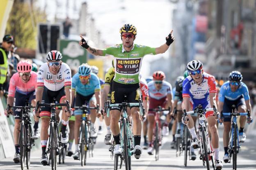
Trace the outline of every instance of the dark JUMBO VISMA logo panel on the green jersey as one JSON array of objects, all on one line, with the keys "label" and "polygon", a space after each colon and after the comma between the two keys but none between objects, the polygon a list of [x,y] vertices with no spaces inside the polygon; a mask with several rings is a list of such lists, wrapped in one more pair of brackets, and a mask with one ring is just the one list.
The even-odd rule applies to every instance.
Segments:
[{"label": "dark JUMBO VISMA logo panel on the green jersey", "polygon": [[139,71],[141,59],[117,59],[117,73],[135,74]]}]

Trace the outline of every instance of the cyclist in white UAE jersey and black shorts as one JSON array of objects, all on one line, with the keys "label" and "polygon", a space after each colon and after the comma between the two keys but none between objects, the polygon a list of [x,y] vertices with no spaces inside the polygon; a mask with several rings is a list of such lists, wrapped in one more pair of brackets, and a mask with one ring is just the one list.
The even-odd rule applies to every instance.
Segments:
[{"label": "cyclist in white UAE jersey and black shorts", "polygon": [[[36,101],[39,103],[52,103],[53,98],[59,103],[71,104],[71,70],[66,63],[63,63],[62,54],[59,51],[52,50],[46,56],[46,63],[43,63],[37,72],[37,95]],[[42,157],[40,159],[43,165],[47,165],[48,157],[46,154],[46,145],[48,140],[48,127],[50,122],[50,107],[41,107],[41,112],[37,110],[37,116],[41,117],[41,147]],[[69,123],[69,117],[73,114],[72,110],[66,110],[62,107],[62,129],[61,142],[69,141],[69,134],[66,131],[66,125]]]}]

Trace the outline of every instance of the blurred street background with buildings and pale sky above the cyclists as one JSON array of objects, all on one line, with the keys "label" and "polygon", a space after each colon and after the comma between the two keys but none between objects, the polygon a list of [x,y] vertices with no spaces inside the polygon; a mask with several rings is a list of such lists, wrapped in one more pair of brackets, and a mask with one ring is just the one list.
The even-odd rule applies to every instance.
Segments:
[{"label": "blurred street background with buildings and pale sky above the cyclists", "polygon": [[135,43],[159,47],[174,29],[175,41],[165,54],[144,57],[145,78],[162,70],[174,86],[186,64],[198,59],[219,86],[232,70],[240,71],[254,104],[255,9],[255,0],[1,0],[0,41],[5,34],[14,36],[9,55],[16,60],[40,66],[47,52],[59,50],[71,69],[87,62],[103,78],[112,56],[88,54],[78,44],[80,34],[89,45],[106,48],[121,43],[119,29],[131,23],[137,27]]}]

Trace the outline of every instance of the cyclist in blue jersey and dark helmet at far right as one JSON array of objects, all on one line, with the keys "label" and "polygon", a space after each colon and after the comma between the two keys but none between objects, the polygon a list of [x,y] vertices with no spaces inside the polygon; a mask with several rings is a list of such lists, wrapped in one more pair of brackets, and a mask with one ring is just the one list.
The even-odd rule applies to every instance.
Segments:
[{"label": "cyclist in blue jersey and dark helmet at far right", "polygon": [[[242,82],[242,74],[239,71],[232,71],[229,74],[229,81],[225,82],[219,92],[219,108],[218,110],[224,113],[232,112],[232,105],[235,105],[236,109],[240,113],[247,112],[247,109],[251,111],[251,103],[249,97],[249,91],[247,86]],[[228,145],[229,145],[229,132],[231,129],[231,116],[224,116],[224,120],[219,119],[220,122],[224,121],[223,131],[223,146],[224,157],[223,161],[229,161]],[[244,132],[246,116],[240,116],[240,130],[239,139],[240,142],[245,142],[246,135]],[[251,121],[251,118],[247,120]]]}]

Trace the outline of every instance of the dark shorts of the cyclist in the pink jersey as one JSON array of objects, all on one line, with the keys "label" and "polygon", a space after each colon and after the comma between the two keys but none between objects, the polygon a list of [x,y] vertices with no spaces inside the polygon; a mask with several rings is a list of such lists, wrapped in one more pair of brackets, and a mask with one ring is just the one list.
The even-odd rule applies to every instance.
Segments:
[{"label": "dark shorts of the cyclist in the pink jersey", "polygon": [[[15,105],[14,106],[25,106],[26,100],[31,103],[33,99],[36,98],[36,92],[32,91],[28,94],[22,94],[19,92],[15,92]],[[14,108],[14,118],[21,119],[21,109]]]}]

